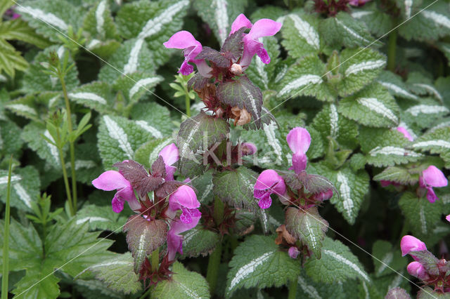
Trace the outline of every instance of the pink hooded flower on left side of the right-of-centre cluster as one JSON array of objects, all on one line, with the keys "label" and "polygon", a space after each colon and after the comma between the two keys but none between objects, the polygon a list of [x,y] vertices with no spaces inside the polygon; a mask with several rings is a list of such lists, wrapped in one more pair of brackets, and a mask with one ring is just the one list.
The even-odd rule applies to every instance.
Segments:
[{"label": "pink hooded flower on left side of the right-of-centre cluster", "polygon": [[275,193],[282,197],[285,192],[286,185],[283,178],[276,171],[267,169],[257,178],[253,195],[259,199],[259,208],[269,208],[272,204],[270,194]]}]

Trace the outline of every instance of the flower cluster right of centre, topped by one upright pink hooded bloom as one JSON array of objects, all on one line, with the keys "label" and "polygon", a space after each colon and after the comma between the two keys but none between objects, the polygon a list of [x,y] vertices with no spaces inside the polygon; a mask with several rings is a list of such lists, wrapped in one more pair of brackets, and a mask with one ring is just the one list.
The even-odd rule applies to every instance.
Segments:
[{"label": "flower cluster right of centre, topped by one upright pink hooded bloom", "polygon": [[[293,152],[292,166],[290,171],[274,171],[268,169],[263,171],[257,178],[254,187],[254,197],[258,199],[260,208],[271,206],[271,194],[277,194],[281,203],[285,206],[293,206],[286,210],[286,223],[298,219],[297,213],[306,214],[317,213],[316,206],[323,201],[333,197],[334,187],[329,180],[320,175],[309,175],[305,171],[307,168],[306,152],[311,145],[311,135],[305,128],[293,128],[286,136],[290,150]],[[278,174],[280,173],[280,174]],[[309,186],[314,188],[308,189]],[[320,218],[317,214],[318,225],[323,232],[328,228],[328,222]],[[288,254],[291,258],[297,258],[301,251],[310,255],[308,246],[297,237],[299,233],[290,225],[281,225],[276,230],[278,237],[276,244],[288,247]]]}]

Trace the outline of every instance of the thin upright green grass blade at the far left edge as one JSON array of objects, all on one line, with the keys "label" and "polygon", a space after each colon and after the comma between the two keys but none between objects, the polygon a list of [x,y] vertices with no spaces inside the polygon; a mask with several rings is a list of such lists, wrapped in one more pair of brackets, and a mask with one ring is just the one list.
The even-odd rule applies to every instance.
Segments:
[{"label": "thin upright green grass blade at the far left edge", "polygon": [[1,277],[1,299],[8,299],[8,275],[9,275],[9,218],[11,198],[11,169],[13,167],[13,155],[9,159],[8,168],[8,187],[6,189],[6,211],[5,211],[5,225],[3,237],[3,269]]}]

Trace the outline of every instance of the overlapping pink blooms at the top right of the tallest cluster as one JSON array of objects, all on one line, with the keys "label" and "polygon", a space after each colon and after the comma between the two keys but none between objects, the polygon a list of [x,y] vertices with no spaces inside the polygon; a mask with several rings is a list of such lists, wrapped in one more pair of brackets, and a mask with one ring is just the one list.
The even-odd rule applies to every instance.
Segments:
[{"label": "overlapping pink blooms at the top right of the tallest cluster", "polygon": [[275,35],[278,31],[280,31],[282,25],[283,24],[270,19],[257,20],[257,22],[252,25],[252,22],[250,22],[245,15],[238,15],[238,18],[236,18],[231,25],[230,34],[233,34],[242,27],[251,28],[250,32],[245,34],[243,38],[244,53],[242,58],[240,58],[240,65],[243,67],[243,70],[250,65],[250,62],[252,62],[252,58],[255,54],[258,55],[261,61],[265,64],[270,63],[269,54],[267,54],[264,44],[259,41],[259,38],[263,36]]}]

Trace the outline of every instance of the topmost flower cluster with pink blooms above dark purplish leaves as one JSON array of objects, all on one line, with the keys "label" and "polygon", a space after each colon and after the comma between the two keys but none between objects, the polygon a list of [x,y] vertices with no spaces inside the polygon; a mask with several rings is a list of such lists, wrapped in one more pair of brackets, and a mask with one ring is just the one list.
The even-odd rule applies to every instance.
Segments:
[{"label": "topmost flower cluster with pink blooms above dark purplish leaves", "polygon": [[[212,111],[215,117],[234,119],[235,126],[243,126],[253,119],[259,126],[262,93],[244,72],[255,55],[266,64],[270,62],[269,54],[259,39],[273,36],[280,28],[281,23],[274,20],[262,19],[252,24],[245,15],[240,14],[231,25],[229,37],[220,52],[203,47],[187,31],[176,32],[164,46],[184,51],[184,62],[179,73],[191,74],[194,71],[193,64],[196,65],[198,74],[188,81],[188,86],[198,93],[205,108]],[[233,84],[236,88],[245,88],[248,93],[233,97],[226,89]]]}]

